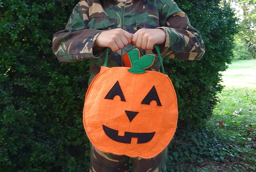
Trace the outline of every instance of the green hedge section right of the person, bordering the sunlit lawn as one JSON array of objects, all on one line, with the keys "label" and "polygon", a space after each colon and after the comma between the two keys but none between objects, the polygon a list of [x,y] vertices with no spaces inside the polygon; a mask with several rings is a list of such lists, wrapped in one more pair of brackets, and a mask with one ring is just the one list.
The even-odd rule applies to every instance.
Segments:
[{"label": "green hedge section right of the person, bordering the sunlit lawn", "polygon": [[189,2],[180,0],[177,4],[203,35],[206,53],[201,60],[191,63],[164,59],[165,72],[176,90],[181,123],[211,115],[215,95],[222,90],[219,71],[226,70],[226,63],[231,62],[233,35],[237,32],[236,18],[232,18],[234,13],[228,7],[207,0]]}]

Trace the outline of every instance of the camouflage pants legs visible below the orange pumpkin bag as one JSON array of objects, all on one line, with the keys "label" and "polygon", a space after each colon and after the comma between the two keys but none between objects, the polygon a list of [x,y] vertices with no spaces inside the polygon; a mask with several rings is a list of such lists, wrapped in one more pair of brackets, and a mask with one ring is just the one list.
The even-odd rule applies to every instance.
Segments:
[{"label": "camouflage pants legs visible below the orange pumpkin bag", "polygon": [[[166,147],[151,159],[132,158],[133,172],[166,172]],[[129,157],[125,155],[105,154],[91,144],[90,172],[128,172]]]}]

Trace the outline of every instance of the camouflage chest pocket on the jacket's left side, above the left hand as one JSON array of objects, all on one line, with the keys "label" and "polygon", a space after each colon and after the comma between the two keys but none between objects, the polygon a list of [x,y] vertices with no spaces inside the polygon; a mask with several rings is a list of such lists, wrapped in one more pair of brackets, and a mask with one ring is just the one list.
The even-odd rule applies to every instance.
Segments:
[{"label": "camouflage chest pocket on the jacket's left side, above the left hand", "polygon": [[91,16],[88,22],[89,29],[110,30],[115,29],[116,18],[109,18],[108,16]]}]

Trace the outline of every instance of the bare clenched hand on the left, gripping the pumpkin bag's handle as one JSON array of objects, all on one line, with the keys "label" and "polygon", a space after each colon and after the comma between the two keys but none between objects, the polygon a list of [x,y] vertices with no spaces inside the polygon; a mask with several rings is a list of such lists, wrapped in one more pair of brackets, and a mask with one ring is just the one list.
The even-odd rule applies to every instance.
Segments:
[{"label": "bare clenched hand on the left, gripping the pumpkin bag's handle", "polygon": [[97,36],[95,44],[98,47],[109,47],[113,52],[116,52],[131,44],[132,35],[121,28],[103,31]]}]

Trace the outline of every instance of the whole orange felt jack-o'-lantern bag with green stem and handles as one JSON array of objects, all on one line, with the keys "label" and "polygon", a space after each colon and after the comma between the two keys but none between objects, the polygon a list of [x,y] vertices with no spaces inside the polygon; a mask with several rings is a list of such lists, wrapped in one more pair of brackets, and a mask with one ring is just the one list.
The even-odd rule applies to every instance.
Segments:
[{"label": "whole orange felt jack-o'-lantern bag with green stem and handles", "polygon": [[123,58],[131,68],[108,68],[107,52],[100,73],[90,84],[83,122],[88,138],[101,152],[148,159],[172,140],[178,119],[177,98],[164,73],[159,47],[155,47],[163,73],[144,70],[154,63],[155,55],[140,57],[138,49]]}]

